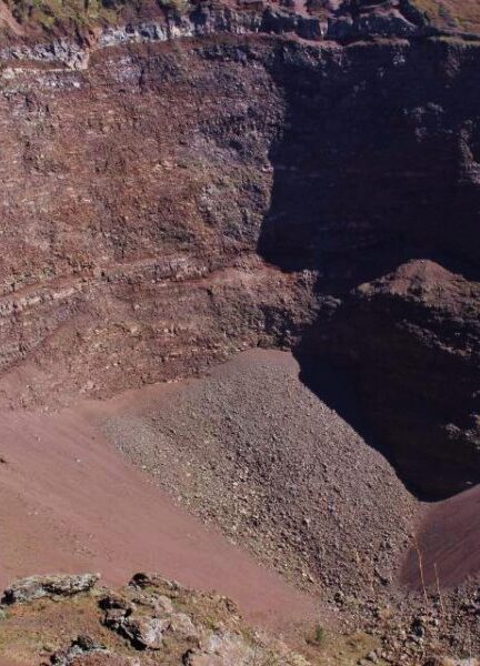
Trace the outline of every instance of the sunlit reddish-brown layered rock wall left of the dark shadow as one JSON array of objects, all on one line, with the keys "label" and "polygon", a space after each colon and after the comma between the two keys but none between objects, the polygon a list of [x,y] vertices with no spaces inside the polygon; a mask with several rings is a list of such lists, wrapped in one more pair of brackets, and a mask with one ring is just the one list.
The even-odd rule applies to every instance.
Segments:
[{"label": "sunlit reddish-brown layered rock wall left of the dark shadow", "polygon": [[259,57],[218,50],[100,50],[83,71],[4,71],[1,364],[13,403],[176,377],[288,341],[303,317],[311,279],[254,253],[284,103]]}]

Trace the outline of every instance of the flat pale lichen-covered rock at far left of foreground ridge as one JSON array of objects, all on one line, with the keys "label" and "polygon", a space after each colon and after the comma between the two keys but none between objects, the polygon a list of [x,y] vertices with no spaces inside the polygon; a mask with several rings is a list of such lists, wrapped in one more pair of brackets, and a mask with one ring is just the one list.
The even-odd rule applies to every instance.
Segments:
[{"label": "flat pale lichen-covered rock at far left of foreground ridge", "polygon": [[12,583],[4,591],[2,603],[24,604],[41,598],[70,597],[88,592],[99,581],[98,574],[81,574],[78,576],[52,575],[30,576]]}]

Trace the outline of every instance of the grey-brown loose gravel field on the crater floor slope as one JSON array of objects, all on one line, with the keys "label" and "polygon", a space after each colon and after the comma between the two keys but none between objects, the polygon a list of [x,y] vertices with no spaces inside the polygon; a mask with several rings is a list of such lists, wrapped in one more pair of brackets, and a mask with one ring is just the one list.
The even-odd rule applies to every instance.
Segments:
[{"label": "grey-brown loose gravel field on the crater floor slope", "polygon": [[306,587],[396,587],[420,504],[301,383],[291,354],[250,351],[129,393],[104,428],[176,501]]}]

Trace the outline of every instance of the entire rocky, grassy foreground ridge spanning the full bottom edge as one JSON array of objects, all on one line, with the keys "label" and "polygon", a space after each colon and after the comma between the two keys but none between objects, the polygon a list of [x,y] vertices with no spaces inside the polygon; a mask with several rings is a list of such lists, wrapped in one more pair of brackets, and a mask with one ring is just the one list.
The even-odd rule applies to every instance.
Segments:
[{"label": "entire rocky, grassy foreground ridge spanning the full bottom edge", "polygon": [[[321,620],[286,639],[249,627],[228,597],[196,592],[158,574],[138,573],[111,589],[93,574],[31,576],[0,605],[1,666],[477,666],[477,638],[446,633],[460,606],[378,610],[367,632],[338,635]],[[48,591],[46,593],[46,589]],[[28,592],[27,592],[28,591]],[[462,597],[466,613],[474,601]],[[470,630],[470,629],[469,629]],[[287,646],[287,643],[291,647]]]}]

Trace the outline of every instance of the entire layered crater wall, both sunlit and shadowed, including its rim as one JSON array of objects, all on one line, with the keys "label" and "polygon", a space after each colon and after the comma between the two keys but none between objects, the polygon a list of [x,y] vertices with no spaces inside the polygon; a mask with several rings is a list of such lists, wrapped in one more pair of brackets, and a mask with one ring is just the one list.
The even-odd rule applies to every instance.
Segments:
[{"label": "entire layered crater wall, both sunlit and shadowed, including its rim", "polygon": [[300,345],[409,483],[478,481],[479,48],[408,2],[156,12],[4,40],[3,402]]}]

